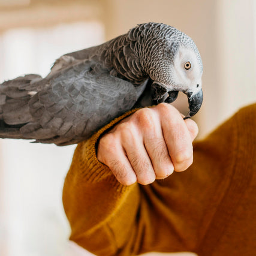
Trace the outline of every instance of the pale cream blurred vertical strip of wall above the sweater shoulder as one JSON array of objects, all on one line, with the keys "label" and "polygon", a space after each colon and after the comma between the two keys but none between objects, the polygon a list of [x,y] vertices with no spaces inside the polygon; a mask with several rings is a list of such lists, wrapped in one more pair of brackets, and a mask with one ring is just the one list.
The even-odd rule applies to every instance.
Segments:
[{"label": "pale cream blurred vertical strip of wall above the sweater shoulder", "polygon": [[218,119],[256,102],[256,1],[219,0],[216,28],[218,77],[221,85]]}]

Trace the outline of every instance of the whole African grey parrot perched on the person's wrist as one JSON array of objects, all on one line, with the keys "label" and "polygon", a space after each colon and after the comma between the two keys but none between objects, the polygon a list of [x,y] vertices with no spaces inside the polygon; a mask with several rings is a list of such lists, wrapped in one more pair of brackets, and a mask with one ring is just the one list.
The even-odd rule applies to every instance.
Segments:
[{"label": "whole African grey parrot perched on the person's wrist", "polygon": [[[28,74],[2,83],[0,137],[79,143],[135,106],[171,103],[179,91],[188,97],[189,118],[201,107],[202,73],[188,35],[144,23],[100,46],[61,56],[45,78]],[[149,91],[152,101],[143,100]]]}]

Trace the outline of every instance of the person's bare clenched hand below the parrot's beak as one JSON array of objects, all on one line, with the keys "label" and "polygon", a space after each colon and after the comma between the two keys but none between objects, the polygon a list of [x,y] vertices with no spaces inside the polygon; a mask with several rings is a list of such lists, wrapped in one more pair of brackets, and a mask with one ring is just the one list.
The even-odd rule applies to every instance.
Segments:
[{"label": "person's bare clenched hand below the parrot's beak", "polygon": [[123,185],[142,185],[184,171],[193,161],[198,127],[170,104],[140,109],[123,119],[98,143],[97,158]]}]

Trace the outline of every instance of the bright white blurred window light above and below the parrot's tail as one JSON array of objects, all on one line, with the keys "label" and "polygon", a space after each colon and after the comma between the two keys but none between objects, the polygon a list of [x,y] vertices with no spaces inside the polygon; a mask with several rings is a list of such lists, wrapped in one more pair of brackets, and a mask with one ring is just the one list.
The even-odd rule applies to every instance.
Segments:
[{"label": "bright white blurred window light above and below the parrot's tail", "polygon": [[[103,43],[101,23],[11,29],[0,36],[0,82],[23,74],[46,76],[61,55]],[[0,139],[2,256],[91,255],[68,242],[62,186],[75,145]]]}]

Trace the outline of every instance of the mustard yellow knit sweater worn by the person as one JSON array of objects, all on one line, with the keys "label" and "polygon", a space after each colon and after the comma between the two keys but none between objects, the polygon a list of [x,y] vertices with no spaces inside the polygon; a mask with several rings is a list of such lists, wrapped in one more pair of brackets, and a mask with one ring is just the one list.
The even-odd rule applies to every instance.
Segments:
[{"label": "mustard yellow knit sweater worn by the person", "polygon": [[116,119],[78,144],[65,179],[70,239],[97,255],[191,251],[256,255],[256,104],[202,141],[194,163],[150,185],[121,185],[95,143]]}]

